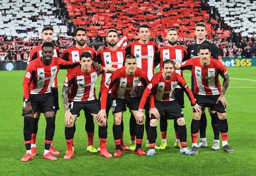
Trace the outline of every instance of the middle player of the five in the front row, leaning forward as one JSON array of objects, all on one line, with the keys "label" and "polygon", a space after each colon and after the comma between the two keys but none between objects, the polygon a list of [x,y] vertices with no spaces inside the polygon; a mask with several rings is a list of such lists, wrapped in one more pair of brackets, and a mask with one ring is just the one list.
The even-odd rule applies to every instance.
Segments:
[{"label": "middle player of the five in the front row, leaning forward", "polygon": [[[143,86],[147,86],[148,78],[145,72],[137,68],[137,60],[134,55],[128,54],[126,56],[126,62],[123,68],[119,68],[114,71],[105,84],[101,95],[101,111],[99,116],[106,116],[106,102],[108,98],[108,92],[111,89],[111,99],[112,99],[112,111],[114,114],[114,142],[116,144],[116,152],[114,157],[122,156],[121,148],[121,121],[122,112],[124,109],[129,107],[129,110],[134,114],[137,114],[139,106],[139,92],[137,86],[139,82],[142,82]],[[136,148],[135,154],[145,155],[146,153],[142,150],[142,138],[144,132],[144,119],[136,119],[135,135],[136,135]]]}]

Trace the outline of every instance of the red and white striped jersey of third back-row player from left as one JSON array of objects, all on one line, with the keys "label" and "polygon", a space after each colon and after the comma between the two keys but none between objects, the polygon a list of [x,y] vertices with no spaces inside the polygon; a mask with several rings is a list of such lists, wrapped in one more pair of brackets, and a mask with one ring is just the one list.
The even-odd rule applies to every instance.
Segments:
[{"label": "red and white striped jersey of third back-row player from left", "polygon": [[[120,48],[116,50],[110,50],[105,48],[104,50],[98,52],[97,62],[103,67],[113,67],[122,68],[124,66],[124,61],[126,57],[126,51]],[[100,82],[100,92],[102,92],[106,81],[110,78],[111,73],[103,73]]]}]

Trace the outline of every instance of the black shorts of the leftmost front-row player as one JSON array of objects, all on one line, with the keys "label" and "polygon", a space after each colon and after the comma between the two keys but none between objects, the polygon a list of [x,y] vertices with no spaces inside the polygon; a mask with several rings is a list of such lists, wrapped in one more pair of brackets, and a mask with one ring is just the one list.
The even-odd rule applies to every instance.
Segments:
[{"label": "black shorts of the leftmost front-row player", "polygon": [[45,113],[48,111],[56,111],[52,93],[36,95],[30,94],[29,97],[34,112],[39,111],[41,113]]}]

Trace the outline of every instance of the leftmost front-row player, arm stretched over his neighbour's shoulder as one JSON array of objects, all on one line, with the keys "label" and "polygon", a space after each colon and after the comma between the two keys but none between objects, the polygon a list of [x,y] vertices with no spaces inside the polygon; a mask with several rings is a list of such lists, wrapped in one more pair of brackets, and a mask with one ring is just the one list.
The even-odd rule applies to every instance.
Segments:
[{"label": "leftmost front-row player, arm stretched over his neighbour's shoulder", "polygon": [[70,65],[72,63],[53,57],[53,53],[53,43],[45,42],[42,46],[43,56],[30,62],[23,79],[23,94],[25,98],[23,108],[23,134],[27,153],[23,156],[21,161],[29,161],[33,156],[31,151],[31,126],[34,112],[44,113],[46,118],[45,152],[43,153],[43,158],[57,160],[49,151],[51,143],[53,142],[56,114],[51,85],[53,85],[56,75],[58,74],[59,66]]}]

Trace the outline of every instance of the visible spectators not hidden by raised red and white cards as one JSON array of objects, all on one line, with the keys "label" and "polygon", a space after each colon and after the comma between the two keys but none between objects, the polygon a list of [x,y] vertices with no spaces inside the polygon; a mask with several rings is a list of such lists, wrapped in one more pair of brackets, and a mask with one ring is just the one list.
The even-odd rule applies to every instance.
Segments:
[{"label": "visible spectators not hidden by raised red and white cards", "polygon": [[[229,27],[223,22],[223,18],[218,14],[218,10],[214,7],[210,7],[207,5],[206,1],[201,1],[200,10],[207,10],[209,13],[209,18],[205,20],[205,22],[210,23],[213,22],[211,28],[213,28],[213,32],[208,33],[207,40],[216,44],[220,50],[223,58],[255,58],[255,38],[252,36],[251,38],[248,36],[242,36],[241,33],[237,33],[233,28]],[[58,34],[58,39],[54,41],[54,44],[59,47],[60,52],[74,44],[74,38],[72,34],[74,29],[78,25],[74,25],[73,18],[69,17],[69,13],[67,12],[66,4],[63,1],[54,1],[51,4],[53,7],[58,7],[57,10],[54,11],[54,15],[56,18],[61,20],[62,25],[67,26],[66,34]],[[157,7],[155,7],[157,10]],[[172,10],[173,7],[170,6],[165,10]],[[5,10],[2,10],[2,15],[4,16]],[[42,18],[43,16],[48,15],[46,12],[41,12],[39,17],[31,17],[33,21],[38,20],[38,18]],[[88,18],[93,18],[92,14],[85,15]],[[211,21],[213,20],[213,21]],[[90,25],[101,25],[98,24],[90,24]],[[124,29],[121,29],[121,33],[119,36],[122,36],[124,33]],[[229,31],[229,37],[225,37],[220,35],[218,31],[226,30]],[[27,28],[27,31],[17,31],[18,33],[27,33],[28,31],[33,31],[35,33],[39,33],[35,31],[34,28]],[[129,42],[136,41],[137,38],[128,38],[127,44]],[[166,39],[161,36],[161,34],[156,34],[153,38],[150,38],[151,41],[155,41],[158,43],[158,46],[164,46],[164,42]],[[179,44],[188,46],[194,42],[194,38],[179,38]],[[17,36],[6,36],[0,35],[0,53],[4,53],[1,55],[1,61],[13,61],[13,60],[27,60],[30,50],[33,47],[36,47],[41,44],[40,38],[30,38],[29,40],[24,40],[24,38],[19,38]],[[88,36],[87,45],[98,49],[101,45],[106,44],[106,39],[104,36]]]}]

